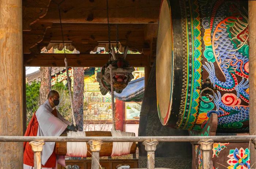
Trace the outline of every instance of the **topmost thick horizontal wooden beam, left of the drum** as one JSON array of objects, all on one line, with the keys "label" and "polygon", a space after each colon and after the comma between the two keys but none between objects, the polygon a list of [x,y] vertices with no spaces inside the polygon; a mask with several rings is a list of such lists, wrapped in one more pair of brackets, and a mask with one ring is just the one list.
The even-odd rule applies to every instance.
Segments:
[{"label": "topmost thick horizontal wooden beam, left of the drum", "polygon": [[[158,23],[160,4],[161,0],[109,0],[109,22]],[[106,1],[64,1],[60,7],[63,23],[107,23]],[[57,5],[51,2],[46,16],[37,22],[59,23],[57,9]]]}]

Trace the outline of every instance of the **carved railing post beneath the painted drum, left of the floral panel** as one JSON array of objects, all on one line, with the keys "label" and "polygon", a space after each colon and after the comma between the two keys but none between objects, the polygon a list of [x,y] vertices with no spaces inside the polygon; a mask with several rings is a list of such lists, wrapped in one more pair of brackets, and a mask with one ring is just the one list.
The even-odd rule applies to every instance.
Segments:
[{"label": "carved railing post beneath the painted drum, left of the floral panel", "polygon": [[213,143],[212,139],[202,139],[198,142],[203,152],[203,169],[210,169],[210,151]]}]

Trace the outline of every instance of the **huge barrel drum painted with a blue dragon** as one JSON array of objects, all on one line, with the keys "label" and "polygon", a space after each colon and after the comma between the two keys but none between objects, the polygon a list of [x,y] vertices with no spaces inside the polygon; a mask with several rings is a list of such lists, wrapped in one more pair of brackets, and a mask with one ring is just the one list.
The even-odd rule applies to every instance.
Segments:
[{"label": "huge barrel drum painted with a blue dragon", "polygon": [[163,0],[157,38],[160,121],[201,131],[249,131],[248,1]]}]

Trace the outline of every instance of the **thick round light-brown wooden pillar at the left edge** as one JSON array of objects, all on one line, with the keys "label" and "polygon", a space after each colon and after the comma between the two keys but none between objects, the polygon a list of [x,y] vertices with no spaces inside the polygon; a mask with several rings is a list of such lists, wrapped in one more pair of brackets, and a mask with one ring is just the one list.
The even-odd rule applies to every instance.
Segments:
[{"label": "thick round light-brown wooden pillar at the left edge", "polygon": [[[23,135],[22,0],[0,0],[0,135]],[[0,142],[0,168],[23,168],[23,143]]]}]

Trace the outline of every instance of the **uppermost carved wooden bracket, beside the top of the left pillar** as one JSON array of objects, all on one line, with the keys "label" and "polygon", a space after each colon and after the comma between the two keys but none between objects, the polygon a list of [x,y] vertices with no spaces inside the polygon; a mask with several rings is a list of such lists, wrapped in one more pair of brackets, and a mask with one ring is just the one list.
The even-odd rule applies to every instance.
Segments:
[{"label": "uppermost carved wooden bracket, beside the top of the left pillar", "polygon": [[51,0],[23,0],[22,30],[30,31],[30,25],[44,17],[48,11]]}]

